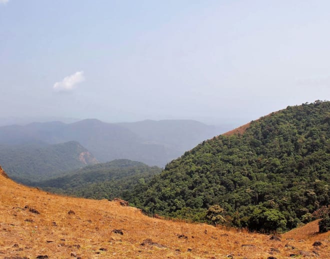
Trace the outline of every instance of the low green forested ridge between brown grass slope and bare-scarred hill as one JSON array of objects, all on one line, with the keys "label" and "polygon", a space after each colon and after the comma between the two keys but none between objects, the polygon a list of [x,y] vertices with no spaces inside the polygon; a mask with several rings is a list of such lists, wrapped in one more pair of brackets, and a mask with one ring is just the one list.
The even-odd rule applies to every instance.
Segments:
[{"label": "low green forested ridge between brown grass slope and bare-scarred hill", "polygon": [[131,199],[131,192],[139,192],[141,186],[161,168],[148,166],[141,162],[117,159],[106,163],[85,166],[68,172],[67,175],[34,182],[32,185],[45,190],[68,195],[101,199],[122,197]]}]

